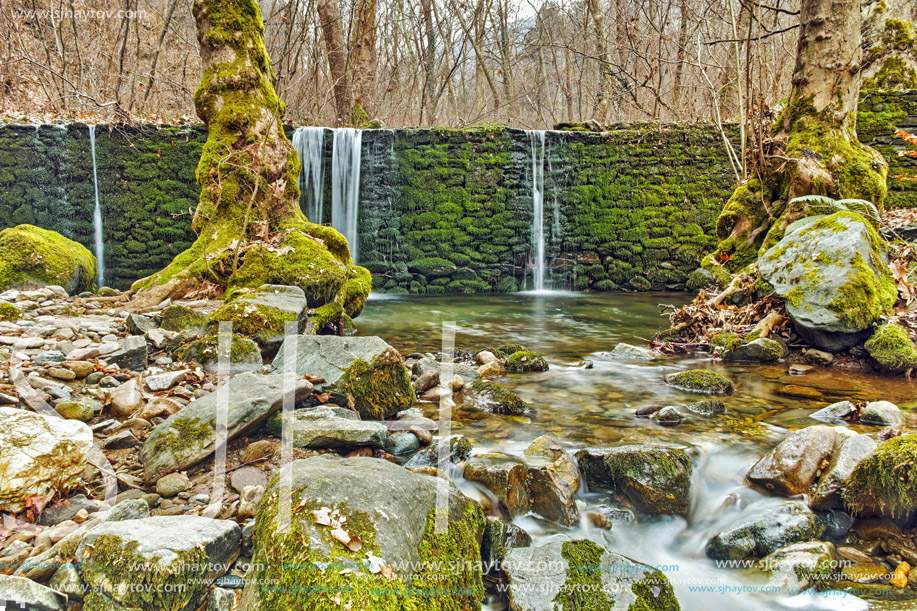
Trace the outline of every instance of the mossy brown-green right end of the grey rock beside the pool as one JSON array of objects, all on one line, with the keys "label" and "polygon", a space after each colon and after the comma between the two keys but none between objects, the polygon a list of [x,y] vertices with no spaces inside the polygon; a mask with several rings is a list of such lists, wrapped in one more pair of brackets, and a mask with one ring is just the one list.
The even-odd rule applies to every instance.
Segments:
[{"label": "mossy brown-green right end of the grey rock beside the pool", "polygon": [[353,398],[353,407],[365,420],[384,420],[417,400],[404,359],[388,348],[371,362],[354,361],[335,384],[335,391]]}]

